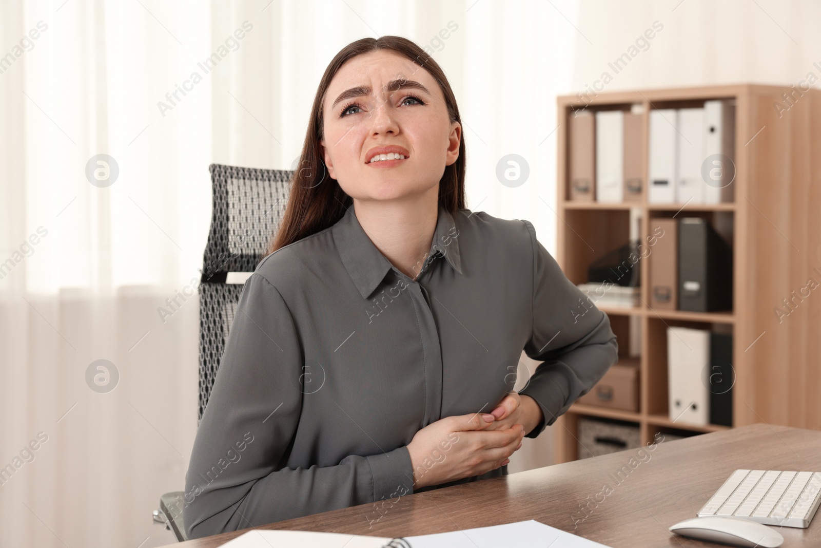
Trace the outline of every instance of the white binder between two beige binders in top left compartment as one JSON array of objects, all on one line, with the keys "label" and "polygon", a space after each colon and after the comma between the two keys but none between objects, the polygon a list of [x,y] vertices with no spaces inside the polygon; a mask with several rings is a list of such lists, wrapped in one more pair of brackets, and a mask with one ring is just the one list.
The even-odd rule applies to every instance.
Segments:
[{"label": "white binder between two beige binders in top left compartment", "polygon": [[624,113],[596,113],[596,201],[624,201]]}]

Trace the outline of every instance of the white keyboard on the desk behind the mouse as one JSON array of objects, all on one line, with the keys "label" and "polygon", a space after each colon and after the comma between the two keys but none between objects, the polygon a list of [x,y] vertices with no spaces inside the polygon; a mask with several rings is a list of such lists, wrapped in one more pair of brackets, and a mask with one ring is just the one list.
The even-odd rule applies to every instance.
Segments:
[{"label": "white keyboard on the desk behind the mouse", "polygon": [[736,470],[697,514],[764,525],[810,527],[821,501],[821,472]]}]

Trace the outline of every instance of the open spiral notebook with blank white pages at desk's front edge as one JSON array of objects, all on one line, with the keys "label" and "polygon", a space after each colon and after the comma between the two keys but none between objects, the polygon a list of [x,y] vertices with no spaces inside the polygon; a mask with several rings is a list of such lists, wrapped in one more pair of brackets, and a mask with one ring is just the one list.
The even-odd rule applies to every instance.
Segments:
[{"label": "open spiral notebook with blank white pages at desk's front edge", "polygon": [[[558,541],[558,542],[557,542]],[[556,542],[555,545],[553,543]],[[346,535],[336,532],[264,531],[255,529],[227,541],[222,548],[498,548],[498,546],[562,546],[609,548],[583,536],[528,521],[476,527],[433,535]]]}]

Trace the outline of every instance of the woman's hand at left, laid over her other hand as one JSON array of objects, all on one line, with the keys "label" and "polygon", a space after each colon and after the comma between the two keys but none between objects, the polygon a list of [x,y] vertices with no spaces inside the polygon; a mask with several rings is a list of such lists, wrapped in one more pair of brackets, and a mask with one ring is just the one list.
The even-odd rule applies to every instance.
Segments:
[{"label": "woman's hand at left, laid over her other hand", "polygon": [[510,462],[508,457],[521,447],[524,426],[484,431],[494,420],[489,413],[456,415],[416,432],[407,445],[414,490],[479,476]]}]

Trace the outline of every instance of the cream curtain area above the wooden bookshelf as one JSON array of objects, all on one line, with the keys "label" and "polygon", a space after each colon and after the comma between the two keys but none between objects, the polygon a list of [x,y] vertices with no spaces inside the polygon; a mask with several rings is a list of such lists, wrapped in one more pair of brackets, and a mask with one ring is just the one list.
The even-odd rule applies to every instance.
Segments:
[{"label": "cream curtain area above the wooden bookshelf", "polygon": [[[653,23],[662,28],[654,32]],[[722,84],[795,84],[821,77],[821,2],[582,0],[576,25],[573,93],[612,77],[603,91]],[[636,42],[645,30],[652,39]],[[629,49],[631,46],[634,49]],[[616,72],[623,53],[631,58]],[[815,85],[816,88],[819,84]],[[599,88],[601,85],[599,84]]]}]

